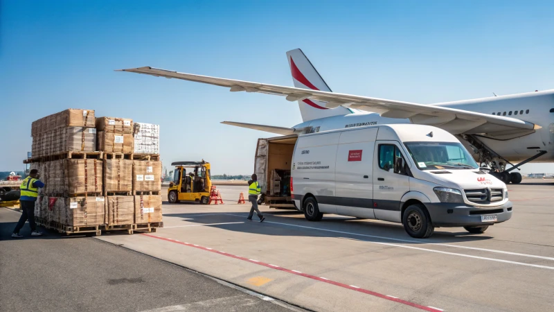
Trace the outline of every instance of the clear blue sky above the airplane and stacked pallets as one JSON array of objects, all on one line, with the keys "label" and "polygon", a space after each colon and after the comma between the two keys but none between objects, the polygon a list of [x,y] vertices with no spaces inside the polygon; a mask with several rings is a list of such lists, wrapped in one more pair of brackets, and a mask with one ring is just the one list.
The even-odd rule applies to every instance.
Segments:
[{"label": "clear blue sky above the airplane and stacked pallets", "polygon": [[251,173],[271,135],[220,121],[301,122],[278,96],[114,69],[292,85],[285,52],[301,48],[335,92],[436,103],[554,88],[553,1],[298,2],[1,1],[0,171],[23,167],[31,121],[69,107],[157,123],[167,165],[228,174]]}]

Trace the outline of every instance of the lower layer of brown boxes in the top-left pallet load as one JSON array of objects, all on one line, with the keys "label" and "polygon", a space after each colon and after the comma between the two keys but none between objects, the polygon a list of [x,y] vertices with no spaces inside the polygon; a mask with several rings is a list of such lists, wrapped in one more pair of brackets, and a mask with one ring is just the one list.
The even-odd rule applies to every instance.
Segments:
[{"label": "lower layer of brown boxes in the top-left pallet load", "polygon": [[55,128],[33,135],[33,157],[96,150],[96,128]]}]

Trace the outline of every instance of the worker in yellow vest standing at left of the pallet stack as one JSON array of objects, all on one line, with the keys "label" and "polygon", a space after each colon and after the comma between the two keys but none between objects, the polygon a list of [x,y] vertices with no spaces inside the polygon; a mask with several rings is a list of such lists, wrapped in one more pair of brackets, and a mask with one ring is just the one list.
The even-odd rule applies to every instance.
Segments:
[{"label": "worker in yellow vest standing at left of the pallet stack", "polygon": [[21,234],[19,230],[25,225],[26,220],[29,220],[29,225],[31,229],[31,236],[41,236],[42,232],[37,231],[37,225],[35,223],[35,201],[37,201],[37,196],[39,194],[39,187],[44,187],[44,183],[39,180],[39,171],[33,169],[30,171],[29,176],[26,177],[23,182],[21,182],[21,197],[19,202],[21,202],[21,218],[13,230],[12,237],[15,239],[21,239]]}]

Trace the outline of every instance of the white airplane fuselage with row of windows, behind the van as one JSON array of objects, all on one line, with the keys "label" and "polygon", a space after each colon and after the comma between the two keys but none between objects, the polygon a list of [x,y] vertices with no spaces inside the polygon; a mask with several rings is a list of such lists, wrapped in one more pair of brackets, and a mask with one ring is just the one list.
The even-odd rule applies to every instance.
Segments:
[{"label": "white airplane fuselage with row of windows, behind the van", "polygon": [[[532,130],[526,135],[516,135],[512,138],[498,138],[484,134],[479,135],[479,139],[490,149],[494,150],[494,152],[510,162],[521,162],[536,155],[539,150],[546,150],[547,153],[534,162],[554,161],[554,90],[437,103],[433,105],[483,114],[499,114],[500,116],[535,123],[535,125],[539,125],[542,128]],[[295,125],[293,128],[310,127],[312,131],[319,132],[388,123],[411,123],[411,120],[386,118],[377,113],[356,112],[354,114],[306,121]],[[436,126],[440,128],[440,125]],[[463,143],[467,144],[467,142]]]}]

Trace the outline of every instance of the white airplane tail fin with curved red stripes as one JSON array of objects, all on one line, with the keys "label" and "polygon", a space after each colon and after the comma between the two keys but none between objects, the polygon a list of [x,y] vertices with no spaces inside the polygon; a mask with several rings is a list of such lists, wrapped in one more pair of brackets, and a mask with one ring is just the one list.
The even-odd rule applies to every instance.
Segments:
[{"label": "white airplane tail fin with curved red stripes", "polygon": [[[332,92],[301,49],[288,51],[287,59],[289,60],[294,87]],[[332,109],[326,108],[324,102],[310,100],[309,98],[298,101],[298,107],[300,107],[303,121],[352,113],[351,110],[342,106]]]}]

